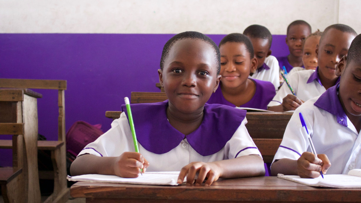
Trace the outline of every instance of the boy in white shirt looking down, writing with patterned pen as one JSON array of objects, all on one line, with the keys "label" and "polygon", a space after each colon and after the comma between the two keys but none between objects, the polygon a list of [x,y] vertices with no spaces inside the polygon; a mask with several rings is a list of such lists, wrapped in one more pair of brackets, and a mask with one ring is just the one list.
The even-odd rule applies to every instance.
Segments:
[{"label": "boy in white shirt looking down, writing with patterned pen", "polygon": [[336,65],[343,56],[347,55],[348,48],[356,36],[355,30],[343,24],[328,26],[323,31],[319,46],[316,48],[318,68],[303,70],[289,75],[287,78],[295,95],[287,84],[283,83],[272,102],[268,104],[270,111],[295,110],[303,102],[321,95],[328,88],[338,82],[335,75]]}]

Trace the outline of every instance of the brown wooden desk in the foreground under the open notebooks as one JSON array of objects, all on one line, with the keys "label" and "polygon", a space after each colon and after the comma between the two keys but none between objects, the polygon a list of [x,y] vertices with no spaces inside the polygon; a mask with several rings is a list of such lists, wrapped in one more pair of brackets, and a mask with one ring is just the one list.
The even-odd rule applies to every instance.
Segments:
[{"label": "brown wooden desk in the foreground under the open notebooks", "polygon": [[310,187],[277,177],[218,180],[211,186],[77,182],[74,198],[92,202],[361,202],[361,189]]}]

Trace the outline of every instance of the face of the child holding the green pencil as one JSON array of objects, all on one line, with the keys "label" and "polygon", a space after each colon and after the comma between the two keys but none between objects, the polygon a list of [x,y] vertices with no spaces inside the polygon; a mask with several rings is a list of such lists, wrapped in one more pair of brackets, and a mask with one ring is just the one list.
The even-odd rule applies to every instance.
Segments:
[{"label": "face of the child holding the green pencil", "polygon": [[200,39],[180,39],[170,48],[159,81],[173,105],[182,113],[203,111],[204,104],[216,91],[217,57],[214,48]]}]

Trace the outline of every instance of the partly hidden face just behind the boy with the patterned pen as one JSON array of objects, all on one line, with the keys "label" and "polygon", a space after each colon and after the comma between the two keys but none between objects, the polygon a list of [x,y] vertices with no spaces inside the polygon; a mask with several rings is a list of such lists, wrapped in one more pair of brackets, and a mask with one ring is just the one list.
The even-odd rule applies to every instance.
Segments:
[{"label": "partly hidden face just behind the boy with the patterned pen", "polygon": [[316,47],[319,43],[319,38],[321,38],[321,36],[310,36],[304,42],[302,61],[306,70],[316,70],[317,68]]}]

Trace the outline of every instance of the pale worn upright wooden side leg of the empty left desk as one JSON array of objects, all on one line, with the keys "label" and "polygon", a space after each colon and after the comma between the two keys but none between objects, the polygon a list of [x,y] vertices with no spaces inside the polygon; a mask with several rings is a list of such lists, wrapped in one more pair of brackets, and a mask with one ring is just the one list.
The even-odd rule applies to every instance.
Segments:
[{"label": "pale worn upright wooden side leg of the empty left desk", "polygon": [[37,100],[24,95],[22,105],[24,122],[24,143],[26,158],[24,160],[25,191],[27,202],[41,202],[38,171],[38,107]]}]

